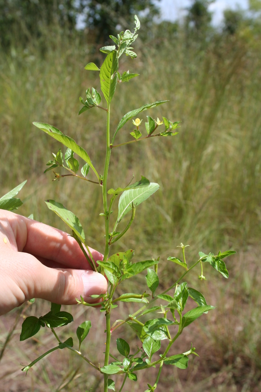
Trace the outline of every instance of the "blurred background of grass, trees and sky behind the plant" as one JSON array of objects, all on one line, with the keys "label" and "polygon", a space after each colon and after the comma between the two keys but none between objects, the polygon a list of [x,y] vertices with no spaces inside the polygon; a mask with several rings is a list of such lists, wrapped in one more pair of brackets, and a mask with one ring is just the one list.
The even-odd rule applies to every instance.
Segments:
[{"label": "blurred background of grass, trees and sky behind the plant", "polygon": [[[133,30],[135,14],[141,20],[134,46],[138,58],[124,57],[119,72],[140,76],[118,85],[112,129],[126,112],[159,99],[169,102],[142,113],[140,130],[145,132],[146,115],[181,121],[181,127],[171,138],[113,149],[109,188],[127,184],[133,173],[135,180],[144,175],[161,186],[139,206],[116,251],[133,248],[136,260],[160,256],[164,289],[180,275],[179,267],[166,259],[181,256],[176,247],[181,242],[190,245],[189,263],[198,251],[237,250],[227,259],[228,280],[207,267],[206,281],[198,281],[200,271],[190,276],[189,284],[217,308],[191,324],[173,352],[187,351],[192,342],[200,358],[191,359],[188,370],[166,367],[159,391],[258,392],[261,0],[0,0],[0,196],[27,179],[18,213],[67,230],[43,201],[62,202],[80,218],[89,244],[102,251],[99,187],[71,177],[52,182],[53,172],[43,174],[60,145],[32,122],[50,123],[71,136],[103,172],[105,113],[93,109],[78,117],[79,97],[88,87],[99,90],[98,73],[84,67],[91,61],[101,65],[105,55],[99,48],[112,45],[109,34]],[[132,128],[129,122],[121,129],[117,144],[131,140]],[[131,283],[133,290],[144,284],[144,276],[139,279]],[[43,308],[48,311],[48,304],[37,300],[0,318],[0,390],[101,391],[99,377],[65,350],[46,357],[27,377],[21,372],[21,364],[55,345],[44,330],[19,343],[23,316],[39,317]],[[85,349],[98,362],[104,350],[103,314],[68,308],[76,323],[64,327],[64,335],[91,319],[94,331]],[[130,310],[122,305],[119,312],[122,318]],[[131,331],[120,334],[139,344]],[[94,348],[94,340],[100,346]],[[126,391],[154,383],[154,376],[140,373],[138,383],[126,384]]]}]

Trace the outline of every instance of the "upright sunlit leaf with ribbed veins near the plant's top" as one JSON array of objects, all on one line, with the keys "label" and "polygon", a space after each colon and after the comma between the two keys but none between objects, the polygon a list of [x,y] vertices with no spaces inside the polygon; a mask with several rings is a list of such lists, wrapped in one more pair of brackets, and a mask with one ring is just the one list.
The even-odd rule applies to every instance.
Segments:
[{"label": "upright sunlit leaf with ribbed veins near the plant's top", "polygon": [[[108,54],[100,69],[100,86],[101,91],[107,103],[111,102],[117,84],[117,73],[112,80],[112,75],[118,70],[117,52],[114,50]],[[89,162],[88,162],[89,163]]]}]

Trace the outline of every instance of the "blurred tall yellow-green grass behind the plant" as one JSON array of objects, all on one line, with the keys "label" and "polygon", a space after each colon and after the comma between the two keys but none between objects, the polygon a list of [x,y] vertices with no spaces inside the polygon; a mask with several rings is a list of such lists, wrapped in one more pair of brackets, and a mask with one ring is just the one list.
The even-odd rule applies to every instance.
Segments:
[{"label": "blurred tall yellow-green grass behind the plant", "polygon": [[[52,183],[52,172],[43,175],[51,151],[56,153],[60,145],[32,125],[33,121],[40,121],[58,127],[85,147],[97,171],[103,171],[105,116],[94,109],[77,116],[78,97],[84,97],[86,88],[98,85],[98,73],[87,73],[84,66],[94,57],[100,61],[101,55],[90,55],[89,50],[88,42],[82,45],[76,40],[72,44],[57,36],[44,53],[35,43],[26,50],[14,47],[8,55],[0,53],[0,184],[4,194],[27,178],[21,214],[33,213],[37,220],[66,229],[43,203],[47,197],[61,201],[80,215],[90,244],[102,249],[99,188],[92,184],[84,187],[73,178]],[[138,59],[126,58],[119,70],[141,72],[141,76],[118,85],[112,126],[116,127],[127,111],[157,99],[169,102],[154,110],[153,117],[165,116],[182,123],[179,135],[173,138],[155,138],[113,149],[110,187],[127,184],[133,173],[136,179],[142,174],[161,185],[158,193],[139,206],[136,222],[119,246],[122,250],[135,248],[138,257],[160,255],[163,260],[177,254],[176,246],[181,241],[190,244],[191,258],[198,250],[216,252],[228,246],[239,251],[229,263],[231,278],[227,286],[207,272],[208,302],[216,303],[218,311],[214,319],[209,319],[205,334],[198,330],[198,336],[194,336],[206,347],[206,353],[201,352],[206,368],[199,365],[199,376],[191,373],[186,385],[191,390],[190,382],[196,380],[198,387],[193,391],[212,391],[213,380],[218,383],[221,372],[225,381],[219,382],[223,385],[220,391],[239,391],[238,385],[244,391],[255,391],[251,389],[254,387],[249,374],[242,373],[242,369],[252,369],[258,385],[260,51],[234,37],[216,38],[202,52],[196,46],[188,46],[181,33],[171,44],[162,39],[157,48],[148,44],[138,51]],[[152,112],[144,113],[143,124],[146,114]],[[130,138],[130,131],[132,125],[126,124],[117,143]],[[168,266],[162,273],[167,284],[176,270]],[[239,329],[234,333],[236,327]],[[31,350],[30,358],[34,357],[31,345],[26,347]],[[66,370],[62,368],[58,373],[65,379],[72,377],[73,368],[76,370],[75,365],[70,365],[70,358],[66,360]],[[43,385],[43,390],[48,384],[52,385],[51,390],[58,391],[61,379],[50,370],[52,362],[48,364],[44,365],[38,384]],[[45,374],[51,378],[49,381]],[[81,377],[84,375],[77,375],[76,379],[82,380]],[[166,373],[166,386],[173,384],[174,379],[177,388],[185,383],[182,375],[170,372]],[[39,385],[36,387],[34,376],[32,380],[31,390],[42,390]],[[97,382],[94,379],[88,387]],[[72,391],[73,386],[80,384],[73,381],[70,385],[65,390]],[[98,387],[93,388],[98,391]]]}]

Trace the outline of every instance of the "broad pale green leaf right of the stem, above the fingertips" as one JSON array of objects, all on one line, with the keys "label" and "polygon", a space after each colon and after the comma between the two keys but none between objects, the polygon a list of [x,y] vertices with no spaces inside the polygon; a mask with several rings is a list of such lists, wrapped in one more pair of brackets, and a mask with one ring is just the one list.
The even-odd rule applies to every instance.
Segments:
[{"label": "broad pale green leaf right of the stem, above the fingertips", "polygon": [[132,210],[132,203],[134,206],[141,204],[142,201],[153,195],[159,188],[159,184],[151,182],[149,185],[124,191],[119,198],[117,222],[119,223]]}]

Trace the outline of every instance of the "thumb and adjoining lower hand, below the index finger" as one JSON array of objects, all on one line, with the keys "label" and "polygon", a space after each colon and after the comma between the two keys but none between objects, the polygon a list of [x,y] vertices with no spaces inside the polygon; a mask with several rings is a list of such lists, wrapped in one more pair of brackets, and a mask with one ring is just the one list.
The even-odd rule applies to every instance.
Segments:
[{"label": "thumb and adjoining lower hand, below the index finger", "polygon": [[0,264],[0,314],[19,306],[31,298],[43,298],[58,304],[75,304],[82,295],[93,302],[93,294],[105,294],[107,281],[91,270],[48,268],[34,256],[3,251]]}]

